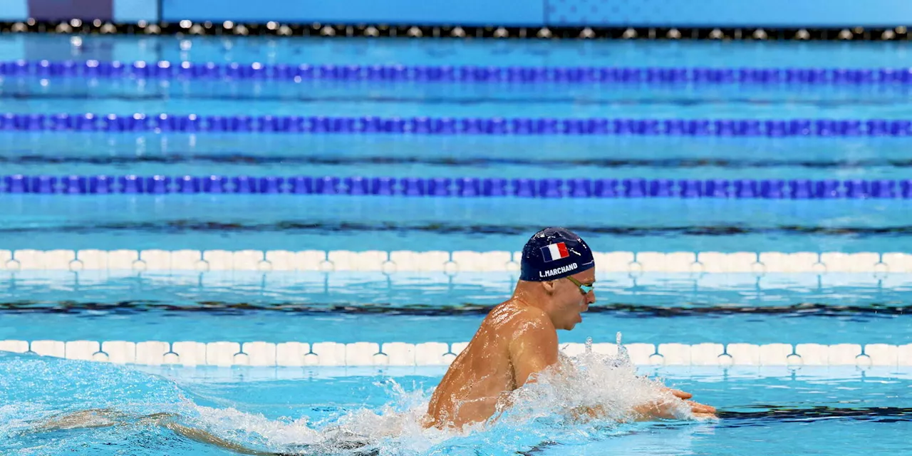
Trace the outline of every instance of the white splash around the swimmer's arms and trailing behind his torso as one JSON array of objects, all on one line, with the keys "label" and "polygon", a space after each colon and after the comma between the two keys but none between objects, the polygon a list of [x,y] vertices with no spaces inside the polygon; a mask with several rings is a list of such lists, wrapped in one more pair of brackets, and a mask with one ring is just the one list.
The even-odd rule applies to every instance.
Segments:
[{"label": "white splash around the swimmer's arms and trailing behind his torso", "polygon": [[351,410],[317,422],[269,420],[236,409],[192,409],[200,424],[224,438],[306,454],[427,454],[473,444],[492,454],[498,448],[509,452],[546,440],[615,435],[623,423],[637,419],[635,408],[648,403],[666,403],[676,418],[692,418],[684,401],[661,383],[637,375],[619,333],[617,342],[617,356],[607,356],[593,352],[588,340],[585,353],[562,355],[558,365],[513,391],[508,408],[461,430],[424,429],[432,390],[407,391],[391,379],[384,385],[393,399],[382,408]]}]

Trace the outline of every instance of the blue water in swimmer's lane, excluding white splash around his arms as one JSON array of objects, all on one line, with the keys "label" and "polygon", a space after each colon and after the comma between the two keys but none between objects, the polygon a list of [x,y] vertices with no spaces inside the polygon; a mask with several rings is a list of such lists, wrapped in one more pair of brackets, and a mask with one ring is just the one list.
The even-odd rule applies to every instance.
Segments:
[{"label": "blue water in swimmer's lane, excluding white splash around his arms", "polygon": [[[161,454],[168,448],[169,454],[181,456],[232,454],[135,418],[164,411],[256,450],[291,451],[294,443],[314,441],[314,430],[349,423],[364,435],[376,429],[378,415],[399,422],[411,404],[409,395],[420,397],[442,374],[440,369],[393,369],[386,375],[349,370],[253,368],[224,375],[214,369],[171,368],[150,376],[131,368],[0,354],[0,417],[8,423],[0,430],[0,450],[58,454],[78,448],[107,455]],[[779,368],[720,375],[716,369],[668,368],[653,374],[718,404],[728,415],[701,423],[620,426],[503,421],[468,436],[401,432],[368,440],[383,449],[381,454],[475,454],[478,448],[484,454],[515,454],[536,447],[543,454],[811,454],[834,445],[841,447],[840,454],[888,454],[907,448],[910,404],[904,391],[910,380],[896,373]],[[10,381],[23,377],[29,383]],[[405,399],[391,381],[401,385]],[[29,387],[32,382],[46,389],[36,391]],[[100,408],[118,409],[126,417],[111,428],[36,430],[61,413]]]}]

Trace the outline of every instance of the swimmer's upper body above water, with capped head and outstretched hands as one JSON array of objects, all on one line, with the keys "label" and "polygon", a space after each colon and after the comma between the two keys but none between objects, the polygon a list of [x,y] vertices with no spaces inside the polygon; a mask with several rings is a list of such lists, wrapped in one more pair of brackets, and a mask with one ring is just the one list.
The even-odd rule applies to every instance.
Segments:
[{"label": "swimmer's upper body above water, with capped head and outstretched hands", "polygon": [[[523,247],[520,278],[513,296],[495,306],[469,346],[453,360],[428,406],[425,427],[461,428],[489,420],[521,388],[558,361],[557,329],[571,330],[596,302],[596,263],[582,238],[563,228],[535,233]],[[689,393],[667,389],[685,400],[697,417],[716,409],[687,399]],[[643,404],[631,410],[640,420],[675,418],[679,404]],[[575,410],[596,417],[597,409]]]}]

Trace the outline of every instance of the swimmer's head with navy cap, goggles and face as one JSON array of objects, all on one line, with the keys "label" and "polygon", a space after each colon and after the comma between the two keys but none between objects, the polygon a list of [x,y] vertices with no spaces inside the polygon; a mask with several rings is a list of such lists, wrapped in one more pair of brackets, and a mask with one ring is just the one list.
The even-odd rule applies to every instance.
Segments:
[{"label": "swimmer's head with navy cap, goggles and face", "polygon": [[557,329],[573,329],[596,302],[596,261],[585,241],[564,228],[545,228],[523,247],[520,280],[544,293],[541,303]]}]

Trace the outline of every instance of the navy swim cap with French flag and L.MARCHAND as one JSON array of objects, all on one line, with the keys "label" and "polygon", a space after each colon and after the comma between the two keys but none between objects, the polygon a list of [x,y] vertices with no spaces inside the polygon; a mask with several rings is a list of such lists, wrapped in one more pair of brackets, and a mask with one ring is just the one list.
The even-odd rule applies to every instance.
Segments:
[{"label": "navy swim cap with French flag and L.MARCHAND", "polygon": [[583,238],[564,228],[545,228],[525,243],[519,278],[544,282],[595,266],[596,260]]}]

